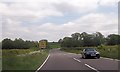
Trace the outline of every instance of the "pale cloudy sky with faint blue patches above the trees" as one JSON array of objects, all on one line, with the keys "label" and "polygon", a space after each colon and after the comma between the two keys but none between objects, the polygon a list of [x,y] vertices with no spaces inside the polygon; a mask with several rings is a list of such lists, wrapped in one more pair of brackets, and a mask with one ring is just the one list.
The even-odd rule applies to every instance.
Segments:
[{"label": "pale cloudy sky with faint blue patches above the trees", "polygon": [[75,32],[118,34],[118,1],[0,0],[0,40],[58,41]]}]

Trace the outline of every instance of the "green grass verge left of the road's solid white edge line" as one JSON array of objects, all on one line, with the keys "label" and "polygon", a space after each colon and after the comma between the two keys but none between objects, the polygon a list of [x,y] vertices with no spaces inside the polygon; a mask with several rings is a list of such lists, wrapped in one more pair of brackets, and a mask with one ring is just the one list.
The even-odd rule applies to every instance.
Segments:
[{"label": "green grass verge left of the road's solid white edge line", "polygon": [[3,70],[36,70],[46,59],[49,50],[42,50],[26,56],[17,56],[34,51],[34,49],[23,50],[3,50],[2,69]]}]

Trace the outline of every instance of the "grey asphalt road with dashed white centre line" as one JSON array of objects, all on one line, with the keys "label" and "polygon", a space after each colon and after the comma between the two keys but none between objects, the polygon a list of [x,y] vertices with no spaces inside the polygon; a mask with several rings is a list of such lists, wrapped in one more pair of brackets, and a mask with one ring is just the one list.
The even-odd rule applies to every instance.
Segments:
[{"label": "grey asphalt road with dashed white centre line", "polygon": [[73,54],[53,49],[40,70],[86,70],[92,72],[118,72],[118,62],[109,59],[82,59],[80,54]]}]

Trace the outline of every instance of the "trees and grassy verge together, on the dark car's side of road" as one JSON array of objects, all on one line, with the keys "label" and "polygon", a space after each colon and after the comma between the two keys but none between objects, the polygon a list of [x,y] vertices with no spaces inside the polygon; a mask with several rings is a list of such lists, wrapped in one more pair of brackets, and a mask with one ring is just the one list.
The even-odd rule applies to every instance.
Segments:
[{"label": "trees and grassy verge together, on the dark car's side of road", "polygon": [[92,47],[97,49],[102,57],[119,59],[120,35],[110,34],[104,37],[100,32],[74,33],[71,37],[64,37],[58,42],[63,51],[80,54],[84,48]]}]

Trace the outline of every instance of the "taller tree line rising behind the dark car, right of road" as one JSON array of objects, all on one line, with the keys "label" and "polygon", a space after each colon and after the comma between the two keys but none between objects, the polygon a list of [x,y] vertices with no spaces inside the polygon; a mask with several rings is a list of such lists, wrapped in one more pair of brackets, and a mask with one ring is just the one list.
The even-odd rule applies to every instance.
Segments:
[{"label": "taller tree line rising behind the dark car, right of road", "polygon": [[100,32],[93,34],[74,33],[71,37],[64,37],[58,41],[61,47],[90,47],[100,45],[118,45],[120,44],[120,35],[110,34],[107,37]]}]

